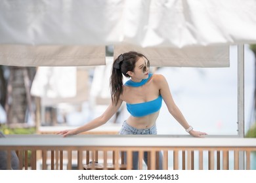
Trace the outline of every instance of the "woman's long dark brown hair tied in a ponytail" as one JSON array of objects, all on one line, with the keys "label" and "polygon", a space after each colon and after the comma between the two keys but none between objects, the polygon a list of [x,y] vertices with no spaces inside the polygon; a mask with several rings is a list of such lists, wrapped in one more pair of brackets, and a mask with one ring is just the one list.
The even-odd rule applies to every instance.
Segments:
[{"label": "woman's long dark brown hair tied in a ponytail", "polygon": [[110,76],[110,90],[111,99],[115,105],[117,105],[119,97],[123,93],[123,75],[129,77],[127,72],[133,72],[135,63],[142,57],[146,58],[146,56],[138,52],[126,52],[114,60],[112,75]]}]

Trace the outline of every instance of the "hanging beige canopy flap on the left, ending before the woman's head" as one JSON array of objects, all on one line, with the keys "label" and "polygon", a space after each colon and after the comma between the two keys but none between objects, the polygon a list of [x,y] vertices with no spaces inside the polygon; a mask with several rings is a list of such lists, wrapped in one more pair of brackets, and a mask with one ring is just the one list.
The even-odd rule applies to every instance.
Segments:
[{"label": "hanging beige canopy flap on the left, ending before the woman's head", "polygon": [[105,65],[105,46],[0,45],[0,64],[11,66]]}]

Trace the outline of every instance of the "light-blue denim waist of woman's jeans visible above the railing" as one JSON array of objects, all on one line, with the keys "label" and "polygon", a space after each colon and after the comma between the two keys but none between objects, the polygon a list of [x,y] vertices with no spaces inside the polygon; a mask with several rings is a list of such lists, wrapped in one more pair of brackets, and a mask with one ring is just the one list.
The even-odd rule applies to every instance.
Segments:
[{"label": "light-blue denim waist of woman's jeans visible above the railing", "polygon": [[156,125],[145,129],[137,129],[127,124],[127,122],[123,122],[123,125],[119,131],[119,135],[156,135]]}]

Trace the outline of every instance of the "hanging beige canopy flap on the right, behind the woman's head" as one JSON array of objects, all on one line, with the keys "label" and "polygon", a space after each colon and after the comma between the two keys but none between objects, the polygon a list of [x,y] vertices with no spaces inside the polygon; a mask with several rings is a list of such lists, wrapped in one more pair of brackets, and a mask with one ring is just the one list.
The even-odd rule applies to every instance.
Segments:
[{"label": "hanging beige canopy flap on the right, behind the woman's head", "polygon": [[114,59],[123,52],[144,54],[154,67],[229,67],[229,46],[198,46],[191,48],[141,48],[115,46]]}]

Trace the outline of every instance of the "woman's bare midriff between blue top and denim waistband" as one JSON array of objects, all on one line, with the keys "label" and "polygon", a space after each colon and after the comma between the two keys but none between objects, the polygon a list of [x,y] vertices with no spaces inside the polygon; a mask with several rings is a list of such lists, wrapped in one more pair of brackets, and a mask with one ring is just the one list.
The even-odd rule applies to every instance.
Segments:
[{"label": "woman's bare midriff between blue top and denim waistband", "polygon": [[154,112],[153,114],[149,114],[147,116],[143,117],[134,117],[130,116],[126,122],[127,124],[131,125],[132,127],[135,127],[137,129],[145,129],[148,127],[152,127],[156,124],[156,119],[159,116],[159,111]]}]

